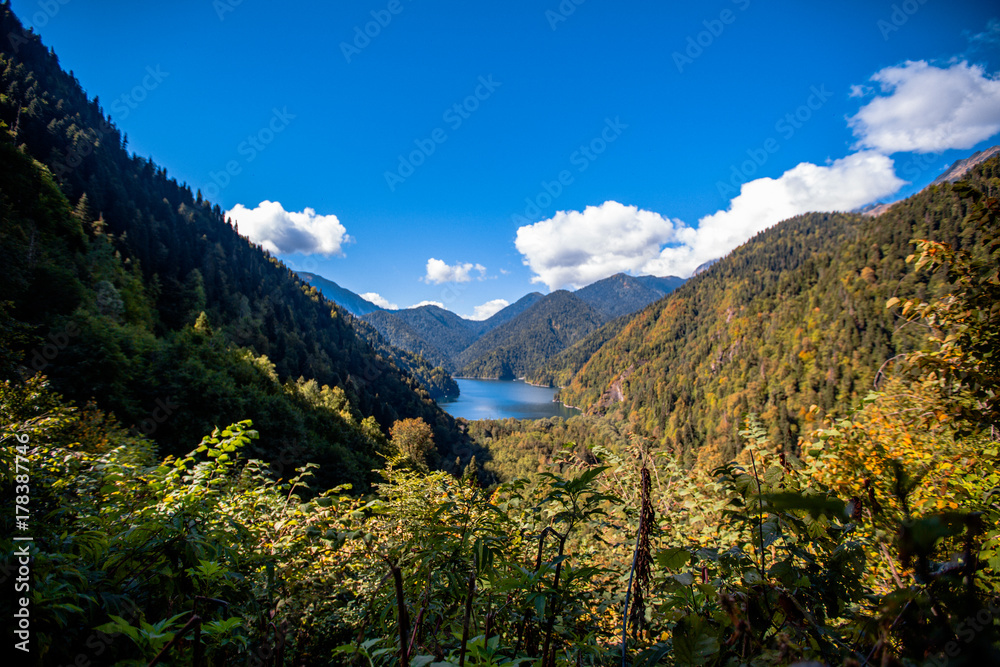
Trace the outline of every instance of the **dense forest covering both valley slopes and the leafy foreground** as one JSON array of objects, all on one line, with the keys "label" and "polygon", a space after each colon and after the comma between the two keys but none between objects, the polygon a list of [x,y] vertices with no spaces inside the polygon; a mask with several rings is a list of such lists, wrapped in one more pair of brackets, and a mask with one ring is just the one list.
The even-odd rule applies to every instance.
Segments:
[{"label": "dense forest covering both valley slopes and the leafy foreground", "polygon": [[1000,159],[553,318],[589,412],[468,423],[0,31],[9,655],[1000,662]]}]

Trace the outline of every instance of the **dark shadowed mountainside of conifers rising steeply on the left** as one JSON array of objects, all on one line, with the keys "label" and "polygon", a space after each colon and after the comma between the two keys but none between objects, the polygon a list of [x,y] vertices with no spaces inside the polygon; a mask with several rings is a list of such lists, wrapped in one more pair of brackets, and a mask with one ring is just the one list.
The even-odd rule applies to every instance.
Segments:
[{"label": "dark shadowed mountainside of conifers rising steeply on the left", "polygon": [[413,374],[432,369],[129,154],[7,3],[0,33],[19,36],[0,44],[0,379],[44,372],[163,453],[252,419],[249,453],[320,463],[328,485],[363,488],[399,419],[431,424],[443,452],[464,442]]}]

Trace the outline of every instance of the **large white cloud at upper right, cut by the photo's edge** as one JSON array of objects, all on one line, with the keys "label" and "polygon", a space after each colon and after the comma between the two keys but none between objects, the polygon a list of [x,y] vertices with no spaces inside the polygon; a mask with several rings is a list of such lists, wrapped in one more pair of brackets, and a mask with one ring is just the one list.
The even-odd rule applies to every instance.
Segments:
[{"label": "large white cloud at upper right, cut by the photo's edge", "polygon": [[871,80],[883,94],[848,119],[856,147],[940,153],[971,148],[1000,132],[1000,80],[978,65],[906,62]]}]

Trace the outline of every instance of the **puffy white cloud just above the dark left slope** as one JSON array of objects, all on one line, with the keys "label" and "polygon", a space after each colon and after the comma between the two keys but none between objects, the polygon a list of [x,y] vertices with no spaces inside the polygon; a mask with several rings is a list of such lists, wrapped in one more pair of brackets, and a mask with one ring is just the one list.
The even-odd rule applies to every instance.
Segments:
[{"label": "puffy white cloud just above the dark left slope", "polygon": [[311,208],[286,211],[280,202],[262,201],[257,208],[237,204],[225,215],[241,234],[275,254],[343,255],[343,246],[353,240],[337,216],[317,215]]}]

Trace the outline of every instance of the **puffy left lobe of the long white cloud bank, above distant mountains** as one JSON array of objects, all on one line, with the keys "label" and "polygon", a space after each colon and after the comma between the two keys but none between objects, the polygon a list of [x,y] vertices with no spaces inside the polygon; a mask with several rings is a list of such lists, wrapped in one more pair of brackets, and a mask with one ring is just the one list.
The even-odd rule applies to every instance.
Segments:
[{"label": "puffy left lobe of the long white cloud bank, above distant mountains", "polygon": [[560,289],[640,270],[663,244],[691,240],[693,234],[679,220],[607,201],[520,227],[514,245],[535,273],[532,282]]}]

